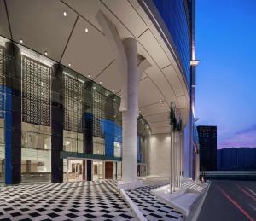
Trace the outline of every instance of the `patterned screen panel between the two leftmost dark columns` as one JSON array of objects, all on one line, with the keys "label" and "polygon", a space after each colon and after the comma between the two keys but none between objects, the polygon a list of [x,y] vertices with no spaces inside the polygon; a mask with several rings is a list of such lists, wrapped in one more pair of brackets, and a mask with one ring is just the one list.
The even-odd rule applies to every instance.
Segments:
[{"label": "patterned screen panel between the two leftmost dark columns", "polygon": [[22,120],[50,125],[50,67],[22,56]]}]

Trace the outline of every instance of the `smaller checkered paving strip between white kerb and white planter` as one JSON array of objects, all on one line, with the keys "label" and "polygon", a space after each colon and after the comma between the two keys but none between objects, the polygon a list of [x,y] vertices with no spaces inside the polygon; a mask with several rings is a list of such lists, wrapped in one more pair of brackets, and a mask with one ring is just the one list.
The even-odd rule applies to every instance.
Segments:
[{"label": "smaller checkered paving strip between white kerb and white planter", "polygon": [[151,189],[156,189],[165,182],[161,184],[155,183],[157,183],[157,181],[151,184],[147,182],[147,186],[128,190],[126,194],[137,204],[137,207],[143,212],[144,217],[150,221],[182,220],[183,215],[180,212],[175,211],[171,206],[167,206],[166,203],[158,200],[150,193]]}]

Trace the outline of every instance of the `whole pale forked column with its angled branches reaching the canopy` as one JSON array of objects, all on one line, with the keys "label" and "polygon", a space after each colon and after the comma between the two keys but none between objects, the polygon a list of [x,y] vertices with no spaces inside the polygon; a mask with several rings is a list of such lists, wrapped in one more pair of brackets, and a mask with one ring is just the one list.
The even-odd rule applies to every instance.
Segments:
[{"label": "whole pale forked column with its angled branches reaching the canopy", "polygon": [[136,39],[125,38],[121,41],[117,28],[101,10],[97,13],[96,20],[108,38],[122,75],[123,90],[119,108],[123,124],[122,182],[137,183],[138,82],[143,71],[150,67],[150,63],[142,56],[138,59]]}]

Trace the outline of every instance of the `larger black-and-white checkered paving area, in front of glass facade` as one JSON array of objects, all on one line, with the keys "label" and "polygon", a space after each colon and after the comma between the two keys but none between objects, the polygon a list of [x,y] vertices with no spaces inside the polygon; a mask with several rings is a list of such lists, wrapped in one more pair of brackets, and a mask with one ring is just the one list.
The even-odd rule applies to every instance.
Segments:
[{"label": "larger black-and-white checkered paving area, in front of glass facade", "polygon": [[[1,187],[0,187],[1,188]],[[137,220],[113,180],[0,189],[0,220]]]}]

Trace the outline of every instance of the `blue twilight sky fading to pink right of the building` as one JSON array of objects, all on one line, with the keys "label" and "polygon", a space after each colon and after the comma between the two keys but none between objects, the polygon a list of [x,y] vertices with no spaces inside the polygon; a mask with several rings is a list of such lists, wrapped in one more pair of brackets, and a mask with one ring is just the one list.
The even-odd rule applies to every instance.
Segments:
[{"label": "blue twilight sky fading to pink right of the building", "polygon": [[197,125],[218,148],[256,147],[256,0],[196,0]]}]

